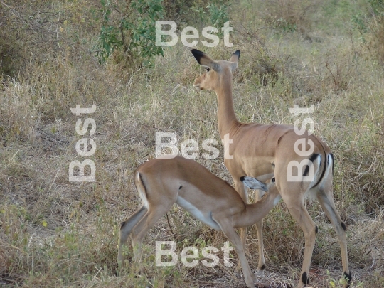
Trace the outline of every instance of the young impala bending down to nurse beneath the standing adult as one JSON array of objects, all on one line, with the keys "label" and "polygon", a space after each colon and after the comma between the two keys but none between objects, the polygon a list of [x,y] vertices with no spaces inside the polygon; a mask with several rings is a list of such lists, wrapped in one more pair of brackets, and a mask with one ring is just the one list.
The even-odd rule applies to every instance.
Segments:
[{"label": "young impala bending down to nurse beneath the standing adult", "polygon": [[[267,180],[272,176],[268,174],[260,179]],[[117,261],[122,264],[122,246],[128,236],[132,235],[134,260],[139,262],[144,235],[177,203],[201,222],[223,231],[238,253],[247,287],[255,288],[255,275],[250,270],[235,228],[260,221],[281,197],[274,178],[268,186],[250,177],[242,177],[241,181],[249,188],[270,190],[270,193],[259,202],[246,204],[232,186],[196,161],[176,156],[173,159],[151,159],[145,162],[134,172],[134,185],[143,203],[122,223]]]}]

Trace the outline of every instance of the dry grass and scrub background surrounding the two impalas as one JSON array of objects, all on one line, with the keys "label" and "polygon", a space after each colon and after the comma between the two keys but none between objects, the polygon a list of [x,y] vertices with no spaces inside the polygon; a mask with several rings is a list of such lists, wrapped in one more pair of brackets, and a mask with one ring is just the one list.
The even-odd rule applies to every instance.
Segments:
[{"label": "dry grass and scrub background surrounding the two impalas", "polygon": [[[242,122],[293,124],[289,107],[315,105],[315,133],[336,160],[334,196],[347,225],[352,287],[383,287],[383,11],[379,0],[0,0],[0,286],[243,285],[222,263],[155,267],[156,240],[175,240],[178,252],[226,241],[176,206],[146,236],[142,265],[117,269],[119,223],[141,203],[132,174],[154,157],[155,132],[174,132],[178,143],[220,143],[215,95],[192,87],[203,71],[180,41],[164,50],[149,45],[152,25],[175,21],[180,33],[229,19],[232,48],[221,36],[217,47],[200,41],[197,48],[216,59],[241,50],[233,90]],[[75,150],[79,117],[70,108],[92,104],[97,181],[70,183],[70,162],[83,160]],[[197,160],[231,182],[218,148],[218,159]],[[311,283],[340,287],[334,229],[319,203],[307,207],[319,226]],[[292,287],[304,238],[284,203],[265,218],[264,235],[262,282]],[[252,269],[256,244],[250,228]],[[132,251],[124,252],[131,260]]]}]

